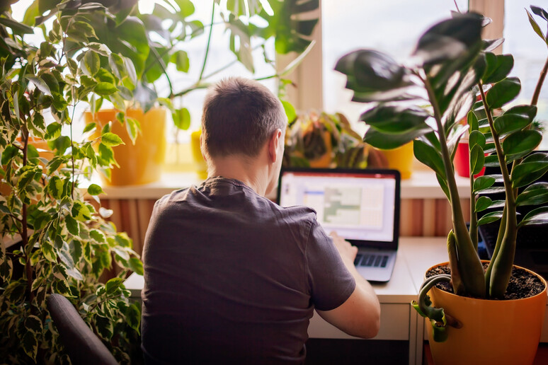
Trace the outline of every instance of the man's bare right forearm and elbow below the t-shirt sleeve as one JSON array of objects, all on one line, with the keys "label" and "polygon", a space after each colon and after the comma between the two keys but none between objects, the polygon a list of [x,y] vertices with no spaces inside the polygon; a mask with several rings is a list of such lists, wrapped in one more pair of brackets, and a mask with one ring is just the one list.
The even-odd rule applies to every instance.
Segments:
[{"label": "man's bare right forearm and elbow below the t-shirt sleeve", "polygon": [[321,318],[355,337],[375,337],[380,327],[380,304],[371,284],[358,273],[354,259],[358,248],[331,233],[333,243],[343,259],[344,265],[355,279],[356,287],[341,306],[331,311],[317,311]]}]

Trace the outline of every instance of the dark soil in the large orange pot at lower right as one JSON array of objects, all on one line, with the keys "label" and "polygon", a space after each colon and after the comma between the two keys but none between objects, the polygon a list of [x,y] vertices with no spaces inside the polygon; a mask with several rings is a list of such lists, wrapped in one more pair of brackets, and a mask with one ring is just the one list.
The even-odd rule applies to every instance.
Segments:
[{"label": "dark soil in the large orange pot at lower right", "polygon": [[[488,265],[489,262],[484,262],[484,270],[487,269]],[[451,274],[449,265],[434,267],[432,270],[426,272],[426,277],[440,274]],[[436,286],[443,291],[449,293],[453,292],[453,288],[448,282],[441,282],[436,284]],[[539,277],[520,267],[513,267],[510,283],[508,284],[508,289],[506,289],[503,300],[525,299],[540,294],[543,290],[544,283]]]}]

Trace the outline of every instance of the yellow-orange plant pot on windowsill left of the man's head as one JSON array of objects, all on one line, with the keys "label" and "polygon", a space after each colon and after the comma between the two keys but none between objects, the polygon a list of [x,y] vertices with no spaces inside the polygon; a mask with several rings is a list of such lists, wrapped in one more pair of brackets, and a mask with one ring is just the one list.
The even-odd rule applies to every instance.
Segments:
[{"label": "yellow-orange plant pot on windowsill left of the man's head", "polygon": [[111,170],[110,181],[101,175],[105,185],[142,185],[155,182],[161,177],[161,166],[166,156],[166,109],[152,108],[146,114],[142,109],[126,110],[127,117],[131,117],[141,124],[141,132],[132,144],[125,124],[116,119],[118,110],[99,110],[92,115],[85,112],[86,124],[96,122],[97,131],[91,138],[99,137],[103,125],[112,122],[110,132],[118,134],[125,144],[113,147],[114,158],[120,168],[114,166]]}]

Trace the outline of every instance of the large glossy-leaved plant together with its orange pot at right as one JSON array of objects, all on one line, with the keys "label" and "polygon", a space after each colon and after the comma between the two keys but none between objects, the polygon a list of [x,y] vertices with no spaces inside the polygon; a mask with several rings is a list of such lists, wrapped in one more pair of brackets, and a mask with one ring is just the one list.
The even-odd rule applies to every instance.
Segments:
[{"label": "large glossy-leaved plant together with its orange pot at right", "polygon": [[[542,8],[531,9],[548,19]],[[535,19],[527,15],[535,32],[547,42]],[[450,276],[434,274],[426,279],[418,303],[413,303],[431,324],[427,328],[436,364],[532,364],[546,311],[546,282],[514,267],[513,258],[518,228],[547,219],[547,207],[540,207],[518,221],[516,207],[548,202],[547,184],[535,183],[548,170],[548,156],[532,152],[542,134],[530,128],[548,62],[532,102],[508,108],[507,103],[520,92],[520,81],[508,77],[513,67],[510,54],[489,52],[501,40],[481,40],[481,27],[486,23],[474,13],[454,13],[420,37],[404,65],[375,50],[352,52],[336,65],[336,70],[348,76],[346,86],[354,91],[353,100],[375,103],[360,116],[370,126],[364,140],[382,149],[414,140],[416,158],[434,170],[450,202],[450,270],[445,270]],[[486,93],[489,84],[492,87]],[[479,102],[476,94],[481,97]],[[493,115],[498,108],[503,108],[502,114]],[[459,123],[463,117],[467,125]],[[452,164],[459,139],[467,130],[470,228],[463,218]],[[491,154],[485,157],[484,153]],[[493,176],[474,178],[484,166],[501,168],[498,179],[504,182],[504,202],[478,197],[496,180]],[[518,192],[523,186],[528,187]],[[498,211],[478,221],[476,213],[487,207],[498,207]],[[497,248],[484,270],[477,254],[477,227],[497,219],[501,221]],[[441,271],[441,266],[432,271]],[[525,299],[507,300],[508,283],[517,280],[518,273],[530,275],[538,286],[533,285]],[[438,288],[440,282],[450,285],[444,291]]]}]

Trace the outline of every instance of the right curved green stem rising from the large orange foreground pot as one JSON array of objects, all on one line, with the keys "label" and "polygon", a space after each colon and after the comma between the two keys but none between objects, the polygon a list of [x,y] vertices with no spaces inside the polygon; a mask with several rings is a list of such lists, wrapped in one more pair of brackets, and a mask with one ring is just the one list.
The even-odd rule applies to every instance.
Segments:
[{"label": "right curved green stem rising from the large orange foreground pot", "polygon": [[[501,241],[501,247],[498,250],[498,255],[494,260],[491,260],[490,265],[493,265],[491,269],[491,277],[489,281],[489,296],[493,298],[502,298],[506,292],[508,282],[510,281],[510,275],[512,274],[512,267],[514,263],[515,255],[515,238],[517,233],[517,219],[515,215],[515,197],[510,182],[510,174],[508,173],[508,166],[504,158],[501,141],[498,139],[498,133],[494,127],[493,115],[491,114],[491,108],[487,105],[484,88],[481,82],[479,83],[479,92],[481,93],[481,100],[484,103],[487,120],[489,120],[489,129],[493,135],[493,142],[495,144],[496,156],[498,158],[498,164],[501,166],[501,173],[503,175],[504,190],[506,191],[506,229]],[[502,224],[502,223],[501,223]]]}]

